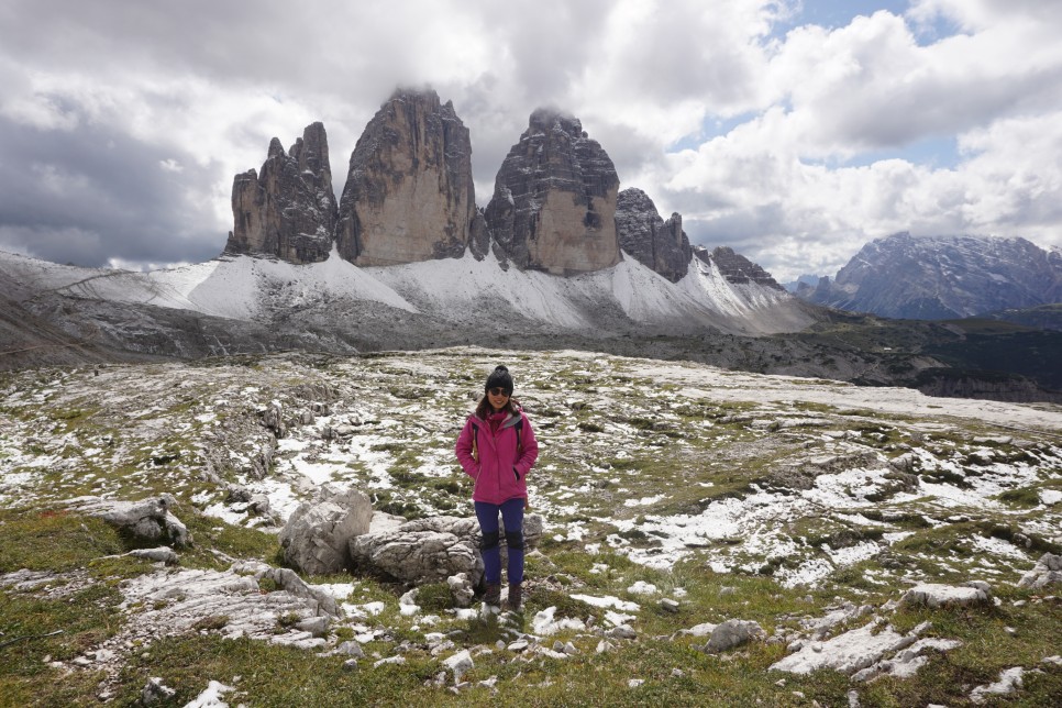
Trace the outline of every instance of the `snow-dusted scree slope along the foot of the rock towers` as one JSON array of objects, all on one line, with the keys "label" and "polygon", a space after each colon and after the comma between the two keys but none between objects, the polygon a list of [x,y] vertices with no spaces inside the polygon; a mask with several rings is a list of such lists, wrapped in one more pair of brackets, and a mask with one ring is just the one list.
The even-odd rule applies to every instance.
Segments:
[{"label": "snow-dusted scree slope along the foot of the rock towers", "polygon": [[369,268],[343,261],[334,250],[328,261],[307,265],[225,256],[148,273],[79,268],[0,253],[0,269],[31,291],[57,290],[237,320],[265,318],[276,308],[347,300],[436,312],[456,321],[462,312],[489,311],[491,302],[504,302],[532,321],[568,329],[595,327],[595,308],[610,305],[646,324],[692,320],[768,333],[809,323],[796,313],[773,312],[790,296],[731,284],[715,264],[696,258],[677,284],[630,257],[597,273],[560,277],[506,270],[493,257],[476,261],[467,252],[462,258]]}]

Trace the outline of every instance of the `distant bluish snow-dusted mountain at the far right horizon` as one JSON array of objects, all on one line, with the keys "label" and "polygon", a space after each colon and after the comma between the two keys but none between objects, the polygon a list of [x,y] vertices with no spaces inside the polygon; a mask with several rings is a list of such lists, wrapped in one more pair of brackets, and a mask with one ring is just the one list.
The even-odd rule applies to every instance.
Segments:
[{"label": "distant bluish snow-dusted mountain at the far right horizon", "polygon": [[877,239],[808,294],[811,302],[881,317],[941,320],[1062,301],[1062,258],[1025,239]]}]

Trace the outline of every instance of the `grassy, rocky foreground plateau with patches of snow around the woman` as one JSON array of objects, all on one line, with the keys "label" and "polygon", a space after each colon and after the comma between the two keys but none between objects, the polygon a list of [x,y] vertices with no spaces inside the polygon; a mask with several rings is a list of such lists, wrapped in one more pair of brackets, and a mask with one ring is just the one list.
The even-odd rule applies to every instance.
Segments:
[{"label": "grassy, rocky foreground plateau with patches of snow around the woman", "polygon": [[[542,445],[522,612],[286,567],[278,534],[325,484],[396,523],[468,517],[453,442],[497,363]],[[0,391],[16,703],[1062,693],[1057,406],[479,349],[37,369]]]}]

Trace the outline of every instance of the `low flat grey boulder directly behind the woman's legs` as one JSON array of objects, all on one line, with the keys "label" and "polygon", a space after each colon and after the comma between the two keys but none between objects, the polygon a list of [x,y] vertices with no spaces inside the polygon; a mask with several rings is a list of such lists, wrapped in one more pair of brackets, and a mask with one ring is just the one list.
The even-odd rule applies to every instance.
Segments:
[{"label": "low flat grey boulder directly behind the woman's legs", "polygon": [[[524,518],[524,549],[534,547],[543,531],[540,515]],[[483,579],[480,541],[479,524],[474,518],[432,517],[355,536],[350,554],[357,569],[405,583],[435,583],[464,573],[472,585],[478,585]],[[505,536],[501,553],[504,566]]]}]

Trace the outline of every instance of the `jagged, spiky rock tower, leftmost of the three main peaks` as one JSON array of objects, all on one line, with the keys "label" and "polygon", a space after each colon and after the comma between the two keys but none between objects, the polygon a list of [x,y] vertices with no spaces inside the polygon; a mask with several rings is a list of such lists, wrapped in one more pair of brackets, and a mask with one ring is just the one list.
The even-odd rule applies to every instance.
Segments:
[{"label": "jagged, spiky rock tower, leftmost of the three main peaks", "polygon": [[284,152],[276,137],[261,175],[232,181],[233,229],[225,253],[270,255],[289,263],[325,261],[336,218],[324,125],[312,123]]}]

